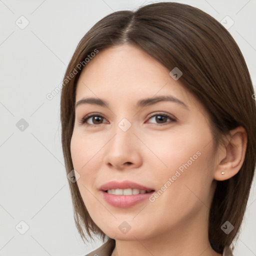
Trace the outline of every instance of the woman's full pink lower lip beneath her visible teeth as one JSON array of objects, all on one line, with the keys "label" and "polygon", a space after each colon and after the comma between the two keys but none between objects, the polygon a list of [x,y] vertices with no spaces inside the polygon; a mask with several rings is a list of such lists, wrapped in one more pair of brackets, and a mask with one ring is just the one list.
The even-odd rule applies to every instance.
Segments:
[{"label": "woman's full pink lower lip beneath her visible teeth", "polygon": [[109,194],[105,191],[100,191],[105,201],[115,207],[128,208],[131,207],[153,194],[154,191],[143,194],[131,194],[131,195],[116,195]]}]

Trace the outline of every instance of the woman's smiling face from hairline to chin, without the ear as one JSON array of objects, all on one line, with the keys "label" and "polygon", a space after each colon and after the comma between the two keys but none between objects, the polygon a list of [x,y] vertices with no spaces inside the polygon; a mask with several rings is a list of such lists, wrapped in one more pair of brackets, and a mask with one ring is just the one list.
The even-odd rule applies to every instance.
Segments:
[{"label": "woman's smiling face from hairline to chin, without the ear", "polygon": [[[125,44],[100,51],[77,82],[76,103],[106,102],[77,104],[70,149],[89,215],[114,239],[149,239],[206,219],[215,188],[208,116],[169,72]],[[161,96],[171,100],[140,101]]]}]

